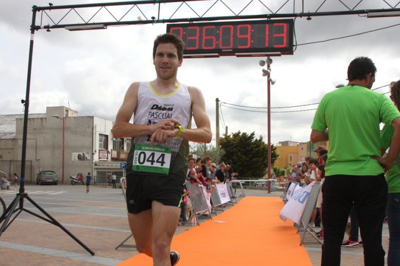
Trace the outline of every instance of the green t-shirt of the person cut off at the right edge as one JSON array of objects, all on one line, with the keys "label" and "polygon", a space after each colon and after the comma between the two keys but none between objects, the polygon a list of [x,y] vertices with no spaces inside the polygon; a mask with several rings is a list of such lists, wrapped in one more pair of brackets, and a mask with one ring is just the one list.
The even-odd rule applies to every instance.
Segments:
[{"label": "green t-shirt of the person cut off at the right edge", "polygon": [[[380,148],[386,150],[390,146],[393,132],[394,129],[390,125],[383,127],[382,132],[380,132]],[[400,153],[397,154],[397,158],[400,159]],[[388,193],[400,193],[400,167],[397,163],[387,171],[386,182]]]}]

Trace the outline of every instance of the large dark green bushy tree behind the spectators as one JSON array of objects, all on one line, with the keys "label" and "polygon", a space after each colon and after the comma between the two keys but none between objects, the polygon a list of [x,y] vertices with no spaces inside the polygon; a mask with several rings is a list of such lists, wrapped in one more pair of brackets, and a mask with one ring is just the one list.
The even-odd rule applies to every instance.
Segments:
[{"label": "large dark green bushy tree behind the spectators", "polygon": [[[266,173],[268,145],[262,136],[257,139],[254,135],[254,132],[247,134],[237,131],[220,139],[220,147],[224,151],[221,161],[226,163],[232,160],[239,177],[261,178]],[[271,145],[271,164],[277,158],[276,148]]]}]

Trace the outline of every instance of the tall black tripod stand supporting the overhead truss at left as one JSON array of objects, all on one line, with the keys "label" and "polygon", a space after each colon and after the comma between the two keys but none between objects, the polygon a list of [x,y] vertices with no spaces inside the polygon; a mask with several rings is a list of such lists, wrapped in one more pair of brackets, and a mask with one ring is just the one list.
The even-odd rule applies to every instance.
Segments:
[{"label": "tall black tripod stand supporting the overhead truss at left", "polygon": [[[36,5],[32,6],[32,24],[30,25],[30,43],[29,43],[29,55],[28,55],[28,70],[27,70],[27,78],[26,78],[26,95],[25,100],[21,100],[21,103],[24,105],[24,115],[23,115],[23,131],[22,131],[22,152],[21,152],[21,173],[20,173],[20,186],[19,191],[16,194],[16,197],[12,200],[11,204],[8,205],[5,212],[0,216],[0,237],[1,234],[11,225],[11,223],[15,220],[15,218],[22,212],[26,212],[31,214],[37,218],[40,218],[52,225],[59,227],[62,231],[64,231],[69,237],[71,237],[76,243],[78,243],[82,248],[84,248],[88,253],[92,256],[94,252],[92,252],[89,248],[87,248],[80,240],[78,240],[74,235],[72,235],[66,228],[64,228],[60,223],[58,223],[51,215],[49,215],[43,208],[41,208],[37,203],[35,203],[27,193],[25,193],[25,157],[26,157],[26,140],[27,140],[27,126],[28,126],[28,112],[29,112],[29,91],[30,91],[30,74],[32,68],[32,55],[33,55],[33,36],[35,31],[35,21],[36,21],[36,12],[38,8]],[[23,207],[24,199],[28,200],[34,207],[36,207],[42,214],[46,217],[42,217],[39,214],[36,214],[28,209]],[[12,215],[16,213],[14,217]],[[12,217],[11,221],[10,218]]]}]

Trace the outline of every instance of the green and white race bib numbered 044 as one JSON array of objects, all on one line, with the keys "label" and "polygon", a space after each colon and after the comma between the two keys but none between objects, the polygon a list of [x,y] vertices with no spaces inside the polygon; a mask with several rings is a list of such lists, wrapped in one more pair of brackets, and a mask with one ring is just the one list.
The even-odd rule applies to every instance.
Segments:
[{"label": "green and white race bib numbered 044", "polygon": [[170,164],[170,148],[151,145],[135,146],[132,171],[167,175],[169,173]]}]

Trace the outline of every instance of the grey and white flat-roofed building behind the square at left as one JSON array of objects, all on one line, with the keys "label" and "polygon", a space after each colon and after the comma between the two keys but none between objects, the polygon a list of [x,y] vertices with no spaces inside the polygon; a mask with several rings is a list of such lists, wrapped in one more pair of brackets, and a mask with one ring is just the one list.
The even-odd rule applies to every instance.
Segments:
[{"label": "grey and white flat-roofed building behind the square at left", "polygon": [[[124,176],[120,163],[126,161],[130,139],[112,138],[110,120],[77,113],[59,106],[28,115],[25,182],[35,183],[42,170],[55,171],[59,183],[62,176],[69,183],[78,172],[90,172],[96,183],[105,183],[111,173]],[[0,170],[9,176],[20,175],[22,130],[22,114],[0,115]]]}]

